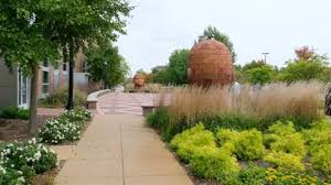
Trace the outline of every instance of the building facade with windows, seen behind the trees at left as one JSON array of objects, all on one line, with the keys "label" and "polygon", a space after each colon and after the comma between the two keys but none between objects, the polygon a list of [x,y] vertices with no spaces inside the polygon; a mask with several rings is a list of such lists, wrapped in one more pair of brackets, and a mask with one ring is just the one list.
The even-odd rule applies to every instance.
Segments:
[{"label": "building facade with windows, seen behind the trees at left", "polygon": [[[74,69],[75,88],[87,94],[99,89],[97,83],[89,81],[85,56],[82,52],[76,55]],[[58,63],[53,66],[45,59],[39,72],[38,91],[39,98],[56,92],[58,88],[65,88],[68,84],[68,64]],[[0,58],[0,108],[17,106],[28,108],[30,105],[31,78],[25,77],[15,67],[9,72],[4,61]]]}]

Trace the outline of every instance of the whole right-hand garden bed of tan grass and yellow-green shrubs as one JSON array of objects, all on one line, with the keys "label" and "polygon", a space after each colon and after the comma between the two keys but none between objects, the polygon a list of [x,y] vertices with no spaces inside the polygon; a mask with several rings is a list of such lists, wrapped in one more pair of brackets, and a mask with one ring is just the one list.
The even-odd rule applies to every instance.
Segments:
[{"label": "whole right-hand garden bed of tan grass and yellow-green shrubs", "polygon": [[323,89],[319,83],[245,86],[239,94],[178,88],[147,122],[195,184],[330,184]]}]

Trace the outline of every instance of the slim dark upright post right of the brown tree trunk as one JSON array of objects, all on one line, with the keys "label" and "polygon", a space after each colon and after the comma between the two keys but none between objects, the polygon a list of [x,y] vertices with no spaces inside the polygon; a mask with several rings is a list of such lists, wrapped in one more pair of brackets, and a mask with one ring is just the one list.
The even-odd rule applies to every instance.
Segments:
[{"label": "slim dark upright post right of the brown tree trunk", "polygon": [[70,74],[68,74],[68,98],[66,109],[74,109],[74,43],[71,41],[70,43]]}]

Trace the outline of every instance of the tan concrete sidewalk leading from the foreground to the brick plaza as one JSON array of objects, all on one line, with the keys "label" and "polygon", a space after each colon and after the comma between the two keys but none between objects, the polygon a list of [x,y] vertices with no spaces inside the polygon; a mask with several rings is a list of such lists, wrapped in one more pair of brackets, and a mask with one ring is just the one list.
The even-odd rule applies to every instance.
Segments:
[{"label": "tan concrete sidewalk leading from the foreground to the brick plaza", "polygon": [[57,175],[58,185],[190,185],[143,117],[97,115]]}]

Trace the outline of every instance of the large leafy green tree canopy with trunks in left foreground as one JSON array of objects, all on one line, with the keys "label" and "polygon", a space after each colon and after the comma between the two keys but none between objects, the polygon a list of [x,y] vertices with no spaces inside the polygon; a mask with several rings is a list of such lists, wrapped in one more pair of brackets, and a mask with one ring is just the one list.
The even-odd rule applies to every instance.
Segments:
[{"label": "large leafy green tree canopy with trunks in left foreground", "polygon": [[30,124],[36,116],[40,62],[55,61],[58,51],[70,61],[70,101],[73,108],[74,55],[81,47],[116,40],[122,34],[125,18],[132,8],[126,0],[1,0],[0,54],[10,69],[32,77]]}]

